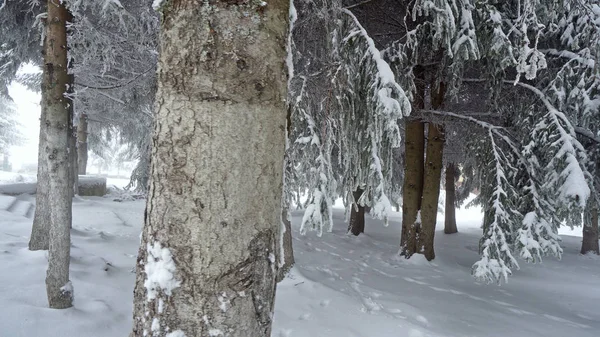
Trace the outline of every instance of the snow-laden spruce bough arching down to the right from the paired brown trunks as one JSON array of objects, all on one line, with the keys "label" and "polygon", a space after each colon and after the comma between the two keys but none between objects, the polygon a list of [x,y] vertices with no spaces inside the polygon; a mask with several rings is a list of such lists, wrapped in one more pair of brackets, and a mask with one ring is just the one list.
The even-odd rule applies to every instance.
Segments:
[{"label": "snow-laden spruce bough arching down to the right from the paired brown trunks", "polygon": [[[511,268],[518,268],[516,254],[528,262],[540,261],[548,253],[560,257],[562,249],[552,213],[553,203],[548,195],[540,193],[543,179],[536,176],[541,170],[535,160],[528,158],[529,149],[526,147],[522,153],[500,126],[448,111],[427,112],[466,120],[487,130],[494,165],[483,169],[482,174],[487,177],[484,184],[493,183],[495,188],[487,191],[482,186],[482,195],[489,194],[490,200],[483,202],[486,218],[481,240],[482,259],[473,266],[473,275],[486,282],[506,280]],[[509,153],[505,153],[495,139],[502,140]],[[516,176],[521,177],[519,181],[515,180]]]}]

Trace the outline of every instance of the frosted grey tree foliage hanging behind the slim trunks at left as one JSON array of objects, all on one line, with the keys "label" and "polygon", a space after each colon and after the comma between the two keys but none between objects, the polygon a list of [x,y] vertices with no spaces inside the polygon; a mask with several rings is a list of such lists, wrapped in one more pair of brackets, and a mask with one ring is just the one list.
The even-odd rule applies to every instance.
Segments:
[{"label": "frosted grey tree foliage hanging behind the slim trunks at left", "polygon": [[[12,49],[4,55],[7,67],[1,69],[0,79],[6,83],[16,79],[37,90],[40,74],[17,76],[17,70],[27,62],[41,66],[38,26],[45,4],[29,0],[7,3],[6,9],[0,11],[0,22],[6,21],[0,34],[5,33],[6,41],[14,41],[14,45],[10,45]],[[104,130],[117,127],[139,156],[131,186],[145,190],[150,112],[156,91],[158,16],[151,8],[151,1],[146,0],[69,0],[67,3],[73,13],[68,45],[69,72],[75,83],[69,96],[74,101],[79,173],[86,172],[88,149],[100,145]],[[23,24],[15,23],[15,18],[21,18],[19,22]],[[9,30],[11,27],[14,29]],[[29,43],[17,43],[24,40]],[[9,44],[5,45],[8,48]],[[2,55],[0,52],[0,57]],[[91,138],[89,142],[88,138]]]}]

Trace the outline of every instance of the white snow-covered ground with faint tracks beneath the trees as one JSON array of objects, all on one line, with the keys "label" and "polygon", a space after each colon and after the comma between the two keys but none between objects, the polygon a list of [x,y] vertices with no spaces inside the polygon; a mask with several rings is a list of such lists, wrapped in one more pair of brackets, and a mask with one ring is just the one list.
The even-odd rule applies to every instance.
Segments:
[{"label": "white snow-covered ground with faint tracks beneath the trees", "polygon": [[[0,210],[0,336],[127,336],[143,209],[143,200],[75,202],[76,302],[67,310],[47,308],[46,253],[27,249],[31,219]],[[562,261],[523,263],[508,284],[483,285],[470,276],[478,209],[458,213],[459,234],[436,233],[432,263],[396,255],[399,214],[387,228],[369,219],[360,237],[345,234],[342,210],[322,238],[299,236],[300,217],[293,214],[297,265],[278,287],[273,337],[599,335],[600,259],[580,256],[578,237],[564,237]]]}]

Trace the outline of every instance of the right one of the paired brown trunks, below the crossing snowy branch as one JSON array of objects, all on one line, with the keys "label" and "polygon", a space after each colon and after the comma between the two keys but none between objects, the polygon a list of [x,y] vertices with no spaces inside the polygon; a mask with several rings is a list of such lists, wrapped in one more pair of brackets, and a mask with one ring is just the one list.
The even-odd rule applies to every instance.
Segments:
[{"label": "right one of the paired brown trunks, below the crossing snowy branch", "polygon": [[419,253],[424,254],[429,261],[435,258],[433,240],[440,197],[444,141],[443,126],[429,123],[423,175],[423,199],[421,200],[421,231],[417,242]]}]

